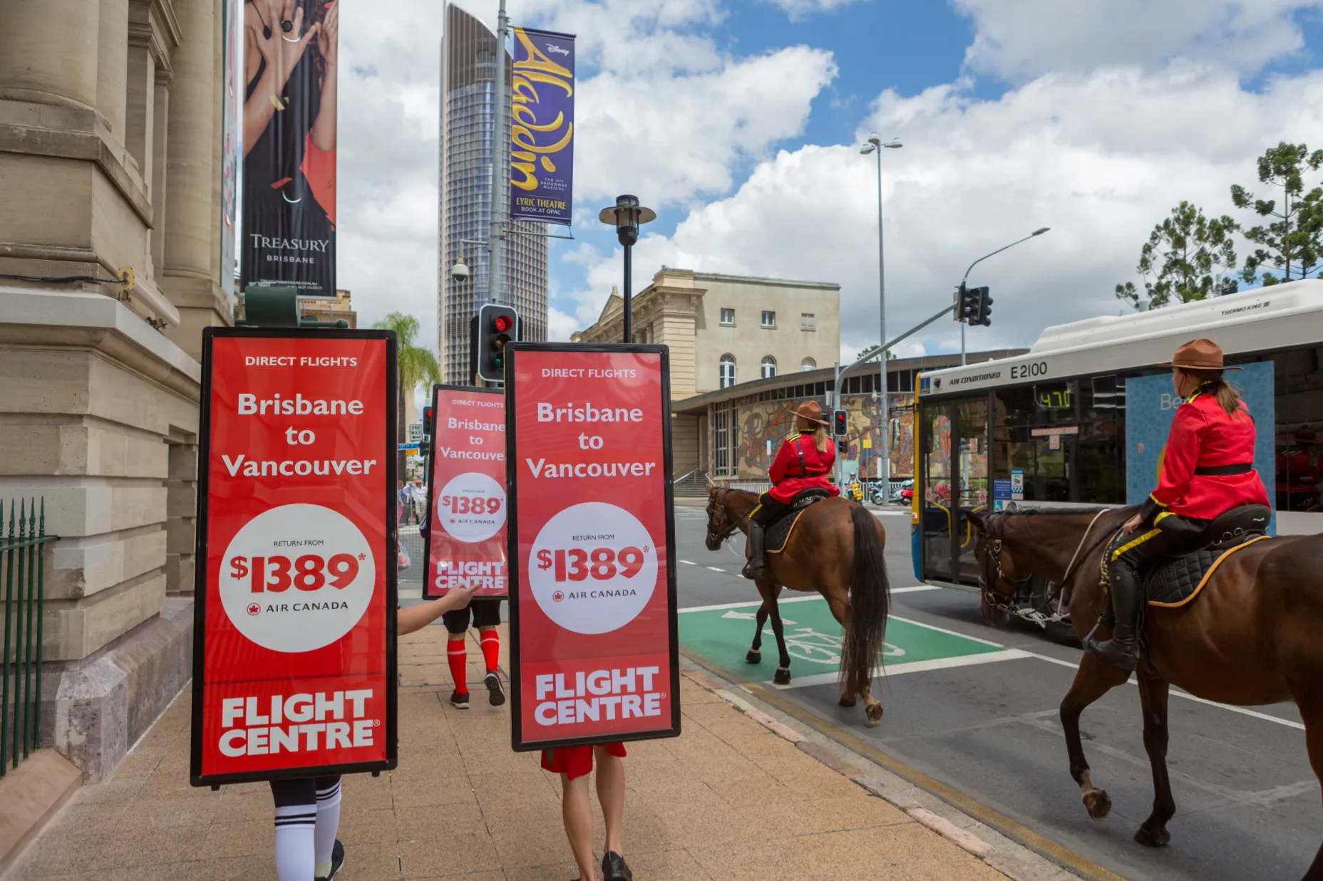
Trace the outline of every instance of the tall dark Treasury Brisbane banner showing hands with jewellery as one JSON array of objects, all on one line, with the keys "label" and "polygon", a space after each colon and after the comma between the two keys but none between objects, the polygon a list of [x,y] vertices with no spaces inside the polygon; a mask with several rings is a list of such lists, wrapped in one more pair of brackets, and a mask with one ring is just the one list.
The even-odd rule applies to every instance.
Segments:
[{"label": "tall dark Treasury Brisbane banner showing hands with jewellery", "polygon": [[241,283],[335,298],[337,0],[243,4]]}]

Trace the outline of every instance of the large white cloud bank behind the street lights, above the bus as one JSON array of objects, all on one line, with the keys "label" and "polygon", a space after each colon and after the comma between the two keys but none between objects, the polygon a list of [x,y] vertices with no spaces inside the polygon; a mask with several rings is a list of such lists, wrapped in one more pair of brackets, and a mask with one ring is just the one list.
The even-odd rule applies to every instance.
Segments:
[{"label": "large white cloud bank behind the street lights, above the bus", "polygon": [[[1228,124],[1236,120],[1236,124]],[[913,98],[884,93],[875,130],[905,148],[884,161],[889,336],[950,302],[968,263],[1040,226],[1052,231],[980,263],[994,323],[971,351],[1032,343],[1046,324],[1114,314],[1117,282],[1172,205],[1238,214],[1232,183],[1254,184],[1254,159],[1281,139],[1323,142],[1323,71],[1262,94],[1233,71],[1175,63],[1160,71],[1041,77],[998,101],[955,86]],[[659,265],[841,284],[841,348],[877,340],[876,165],[855,146],[807,146],[761,163],[726,198],[693,210],[672,237],[635,249],[635,290]],[[597,316],[619,257],[589,258],[577,317]],[[953,351],[939,320],[913,339]],[[910,348],[905,353],[914,353]]]}]

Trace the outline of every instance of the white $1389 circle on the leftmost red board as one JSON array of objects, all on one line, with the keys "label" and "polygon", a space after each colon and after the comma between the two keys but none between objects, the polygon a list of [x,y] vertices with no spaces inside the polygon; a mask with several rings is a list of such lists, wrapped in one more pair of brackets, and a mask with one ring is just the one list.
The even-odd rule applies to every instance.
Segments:
[{"label": "white $1389 circle on the leftmost red board", "polygon": [[377,565],[363,532],[339,511],[280,505],[234,534],[218,581],[221,605],[241,634],[274,652],[310,652],[348,634],[368,611]]}]

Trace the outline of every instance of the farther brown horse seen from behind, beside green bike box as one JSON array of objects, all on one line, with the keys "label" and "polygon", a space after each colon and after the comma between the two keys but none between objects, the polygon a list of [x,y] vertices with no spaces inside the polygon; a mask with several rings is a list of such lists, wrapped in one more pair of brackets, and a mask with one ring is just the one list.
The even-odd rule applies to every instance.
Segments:
[{"label": "farther brown horse seen from behind, beside green bike box", "polygon": [[[749,534],[749,513],[758,505],[757,493],[709,487],[708,496],[708,550],[720,549],[736,529]],[[853,706],[856,697],[861,696],[868,724],[880,722],[882,704],[873,697],[872,679],[881,660],[890,606],[882,556],[885,544],[882,525],[863,505],[844,499],[826,499],[808,505],[785,550],[767,556],[767,574],[755,582],[762,607],[758,608],[753,646],[745,660],[751,664],[762,660],[762,627],[770,616],[781,653],[774,681],[789,684],[790,655],[786,652],[777,598],[782,587],[815,590],[827,599],[831,614],[845,630],[840,656],[840,705]]]}]

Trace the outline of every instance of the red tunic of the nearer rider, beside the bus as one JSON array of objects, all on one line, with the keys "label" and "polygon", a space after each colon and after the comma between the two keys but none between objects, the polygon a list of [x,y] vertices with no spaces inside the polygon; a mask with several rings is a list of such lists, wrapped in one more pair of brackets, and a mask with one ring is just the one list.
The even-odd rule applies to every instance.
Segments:
[{"label": "red tunic of the nearer rider, beside the bus", "polygon": [[[1238,474],[1218,474],[1236,471],[1236,466],[1248,467]],[[1212,520],[1240,505],[1269,504],[1254,470],[1254,421],[1244,403],[1232,418],[1216,394],[1199,389],[1176,407],[1158,488],[1150,500],[1159,509],[1156,519],[1166,511]]]}]

